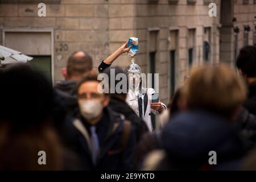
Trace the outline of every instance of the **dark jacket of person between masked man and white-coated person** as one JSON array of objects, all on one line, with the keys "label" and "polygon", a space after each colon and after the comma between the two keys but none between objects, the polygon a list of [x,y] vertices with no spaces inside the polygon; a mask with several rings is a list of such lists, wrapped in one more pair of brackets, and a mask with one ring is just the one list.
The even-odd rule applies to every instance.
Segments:
[{"label": "dark jacket of person between masked man and white-coated person", "polygon": [[131,124],[135,130],[137,141],[141,139],[141,136],[144,133],[148,132],[146,123],[143,121],[143,119],[139,118],[136,113],[134,113],[133,109],[131,109],[125,101],[122,101],[115,96],[111,96],[109,107],[113,111],[123,114],[127,120],[131,121]]}]

